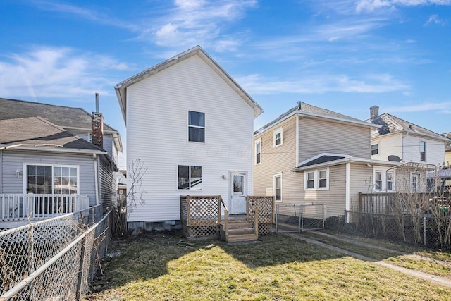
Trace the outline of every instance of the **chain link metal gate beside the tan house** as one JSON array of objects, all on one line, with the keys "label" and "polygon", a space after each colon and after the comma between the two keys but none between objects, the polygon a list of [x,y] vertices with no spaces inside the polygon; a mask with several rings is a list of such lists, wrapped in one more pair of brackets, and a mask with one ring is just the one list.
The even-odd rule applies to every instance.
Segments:
[{"label": "chain link metal gate beside the tan house", "polygon": [[276,232],[301,232],[324,228],[326,204],[276,206]]}]

